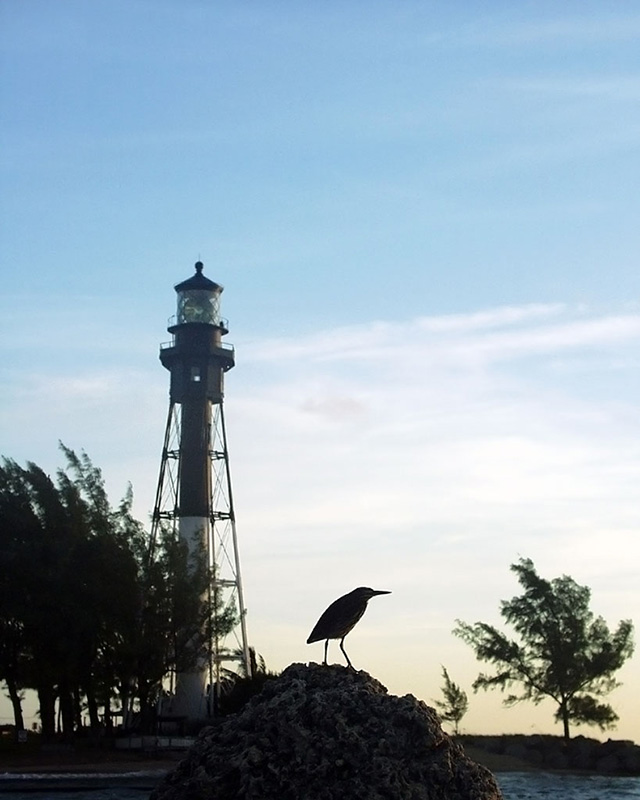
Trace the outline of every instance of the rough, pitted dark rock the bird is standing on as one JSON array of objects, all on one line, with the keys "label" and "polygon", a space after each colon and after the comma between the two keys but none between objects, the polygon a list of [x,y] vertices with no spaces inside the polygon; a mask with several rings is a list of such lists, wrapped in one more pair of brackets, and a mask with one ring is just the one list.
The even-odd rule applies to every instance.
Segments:
[{"label": "rough, pitted dark rock the bird is standing on", "polygon": [[501,800],[437,714],[366,672],[292,664],[205,728],[151,800]]}]

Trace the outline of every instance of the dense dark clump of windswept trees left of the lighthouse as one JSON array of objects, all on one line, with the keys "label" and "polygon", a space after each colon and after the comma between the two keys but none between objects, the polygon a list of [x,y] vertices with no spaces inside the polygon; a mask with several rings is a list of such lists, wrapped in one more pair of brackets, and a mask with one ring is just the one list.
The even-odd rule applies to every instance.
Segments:
[{"label": "dense dark clump of windswept trees left of the lighthouse", "polygon": [[85,713],[92,729],[111,726],[114,699],[148,728],[165,676],[201,663],[235,612],[208,594],[202,554],[163,531],[150,559],[131,489],[113,508],[89,457],[61,449],[55,482],[33,463],[0,464],[0,681],[19,729],[26,689],[45,737],[56,710],[66,735]]}]

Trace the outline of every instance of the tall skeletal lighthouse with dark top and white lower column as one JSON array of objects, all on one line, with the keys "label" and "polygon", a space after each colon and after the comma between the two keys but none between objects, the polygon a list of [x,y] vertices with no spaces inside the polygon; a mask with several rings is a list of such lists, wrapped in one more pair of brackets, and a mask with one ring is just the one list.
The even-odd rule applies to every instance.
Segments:
[{"label": "tall skeletal lighthouse with dark top and white lower column", "polygon": [[213,613],[235,609],[238,625],[222,637],[211,620],[208,654],[193,671],[176,676],[171,707],[162,713],[200,722],[213,713],[213,687],[225,662],[250,674],[240,558],[235,527],[229,451],[223,410],[224,373],[235,363],[220,316],[222,286],[206,278],[198,261],[191,278],[175,286],[177,313],[169,321],[171,342],[160,361],[171,373],[169,414],[153,511],[152,546],[161,526],[185,542],[189,553],[205,552],[211,568]]}]

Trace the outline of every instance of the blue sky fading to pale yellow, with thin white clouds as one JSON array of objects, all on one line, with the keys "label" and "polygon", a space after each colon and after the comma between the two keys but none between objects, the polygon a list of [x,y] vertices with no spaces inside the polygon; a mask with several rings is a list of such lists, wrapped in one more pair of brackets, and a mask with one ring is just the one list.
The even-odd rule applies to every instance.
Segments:
[{"label": "blue sky fading to pale yellow, with thin white clouds", "polygon": [[[615,0],[3,0],[0,453],[85,450],[148,520],[202,260],[250,644],[319,661],[333,599],[391,590],[357,668],[560,734],[451,631],[501,627],[521,557],[640,623],[639,43]],[[603,736],[640,741],[618,677]]]}]

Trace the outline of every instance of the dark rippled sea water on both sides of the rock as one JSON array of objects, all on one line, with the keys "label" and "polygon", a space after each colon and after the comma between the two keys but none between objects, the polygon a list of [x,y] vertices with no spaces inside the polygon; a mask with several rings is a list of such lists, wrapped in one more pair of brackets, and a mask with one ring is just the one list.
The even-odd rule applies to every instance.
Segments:
[{"label": "dark rippled sea water on both sides of the rock", "polygon": [[[49,785],[40,791],[30,781],[29,790],[20,791],[15,781],[11,788],[3,786],[2,777],[0,800],[146,800],[150,792],[148,786],[67,790],[62,776],[59,787]],[[640,777],[497,772],[496,780],[505,800],[640,800]]]}]

